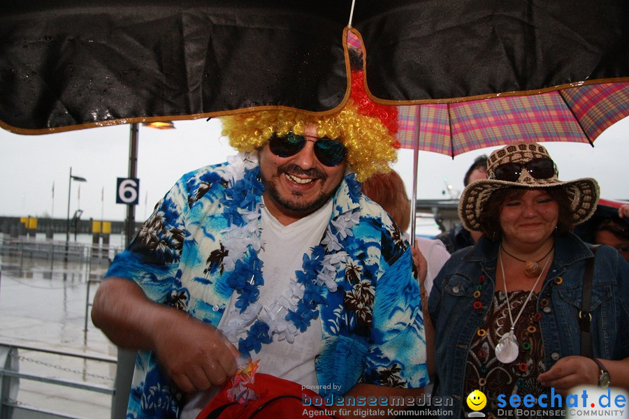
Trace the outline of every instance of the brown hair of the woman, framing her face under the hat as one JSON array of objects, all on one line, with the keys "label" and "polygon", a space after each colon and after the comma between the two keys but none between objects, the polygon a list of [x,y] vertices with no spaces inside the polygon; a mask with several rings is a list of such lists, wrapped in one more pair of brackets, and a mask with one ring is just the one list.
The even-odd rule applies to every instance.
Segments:
[{"label": "brown hair of the woman, framing her face under the hat", "polygon": [[[503,209],[505,202],[510,199],[519,199],[521,196],[530,191],[532,188],[504,188],[496,189],[491,193],[489,199],[479,214],[478,222],[480,224],[480,230],[494,242],[500,240],[503,237],[503,231],[500,228],[500,211]],[[567,191],[563,186],[552,186],[549,188],[540,188],[540,191],[544,191],[555,200],[559,207],[559,215],[557,220],[557,228],[555,233],[557,235],[563,235],[572,229],[572,211],[570,210],[570,198]]]}]

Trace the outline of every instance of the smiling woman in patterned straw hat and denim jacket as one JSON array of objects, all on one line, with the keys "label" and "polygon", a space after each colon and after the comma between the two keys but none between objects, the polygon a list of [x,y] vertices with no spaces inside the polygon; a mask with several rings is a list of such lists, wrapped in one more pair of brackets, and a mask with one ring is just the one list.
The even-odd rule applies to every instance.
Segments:
[{"label": "smiling woman in patterned straw hat and denim jacket", "polygon": [[[628,388],[629,264],[570,233],[595,211],[597,182],[560,181],[536,143],[498,149],[487,172],[459,205],[463,226],[483,237],[451,256],[428,301],[437,394],[452,397],[458,416],[480,390],[495,415],[505,407],[500,395],[509,408],[512,394],[537,402],[575,386],[607,387],[610,379]],[[591,286],[583,286],[588,260]]]}]

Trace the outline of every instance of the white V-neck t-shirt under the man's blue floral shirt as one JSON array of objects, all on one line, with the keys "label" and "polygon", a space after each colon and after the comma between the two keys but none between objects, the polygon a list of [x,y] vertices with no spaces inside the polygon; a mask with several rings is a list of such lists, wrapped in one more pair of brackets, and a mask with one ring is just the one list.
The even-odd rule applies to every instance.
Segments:
[{"label": "white V-neck t-shirt under the man's blue floral shirt", "polygon": [[[262,276],[264,285],[259,287],[258,302],[270,305],[275,297],[282,295],[288,288],[295,271],[302,269],[303,254],[310,252],[311,247],[321,242],[330,217],[332,216],[332,200],[309,216],[288,226],[283,226],[266,207],[262,207],[260,236],[263,247],[258,256],[263,262]],[[233,293],[225,308],[218,328],[222,328],[229,318],[238,316],[235,304],[238,293]],[[251,353],[252,360],[260,360],[257,372],[272,374],[294,381],[301,385],[314,386],[319,383],[315,372],[315,357],[321,351],[321,323],[318,319],[310,322],[310,327],[298,333],[292,344],[286,340],[273,339],[270,344],[262,344],[261,351]],[[246,337],[246,333],[238,335],[231,343],[238,347],[238,338]],[[181,419],[196,418],[199,412],[214,397],[212,389],[198,392],[192,396],[182,409]]]}]

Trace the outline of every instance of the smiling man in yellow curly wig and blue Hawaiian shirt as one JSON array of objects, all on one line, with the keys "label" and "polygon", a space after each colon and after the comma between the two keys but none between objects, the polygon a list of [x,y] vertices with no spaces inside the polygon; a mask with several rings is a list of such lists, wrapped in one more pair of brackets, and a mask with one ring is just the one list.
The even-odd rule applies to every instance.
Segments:
[{"label": "smiling man in yellow curly wig and blue Hawaiian shirt", "polygon": [[194,418],[251,359],[325,397],[421,395],[410,249],[359,182],[390,170],[396,112],[359,87],[334,115],[223,117],[240,154],[184,175],[115,258],[92,319],[140,350],[128,417]]}]

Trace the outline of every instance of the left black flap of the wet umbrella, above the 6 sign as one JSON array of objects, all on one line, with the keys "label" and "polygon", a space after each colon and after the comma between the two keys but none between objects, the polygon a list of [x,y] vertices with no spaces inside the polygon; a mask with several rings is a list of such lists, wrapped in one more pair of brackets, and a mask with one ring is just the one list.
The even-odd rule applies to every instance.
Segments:
[{"label": "left black flap of the wet umbrella, above the 6 sign", "polygon": [[22,130],[263,105],[324,111],[347,90],[343,2],[7,3],[0,120]]}]

